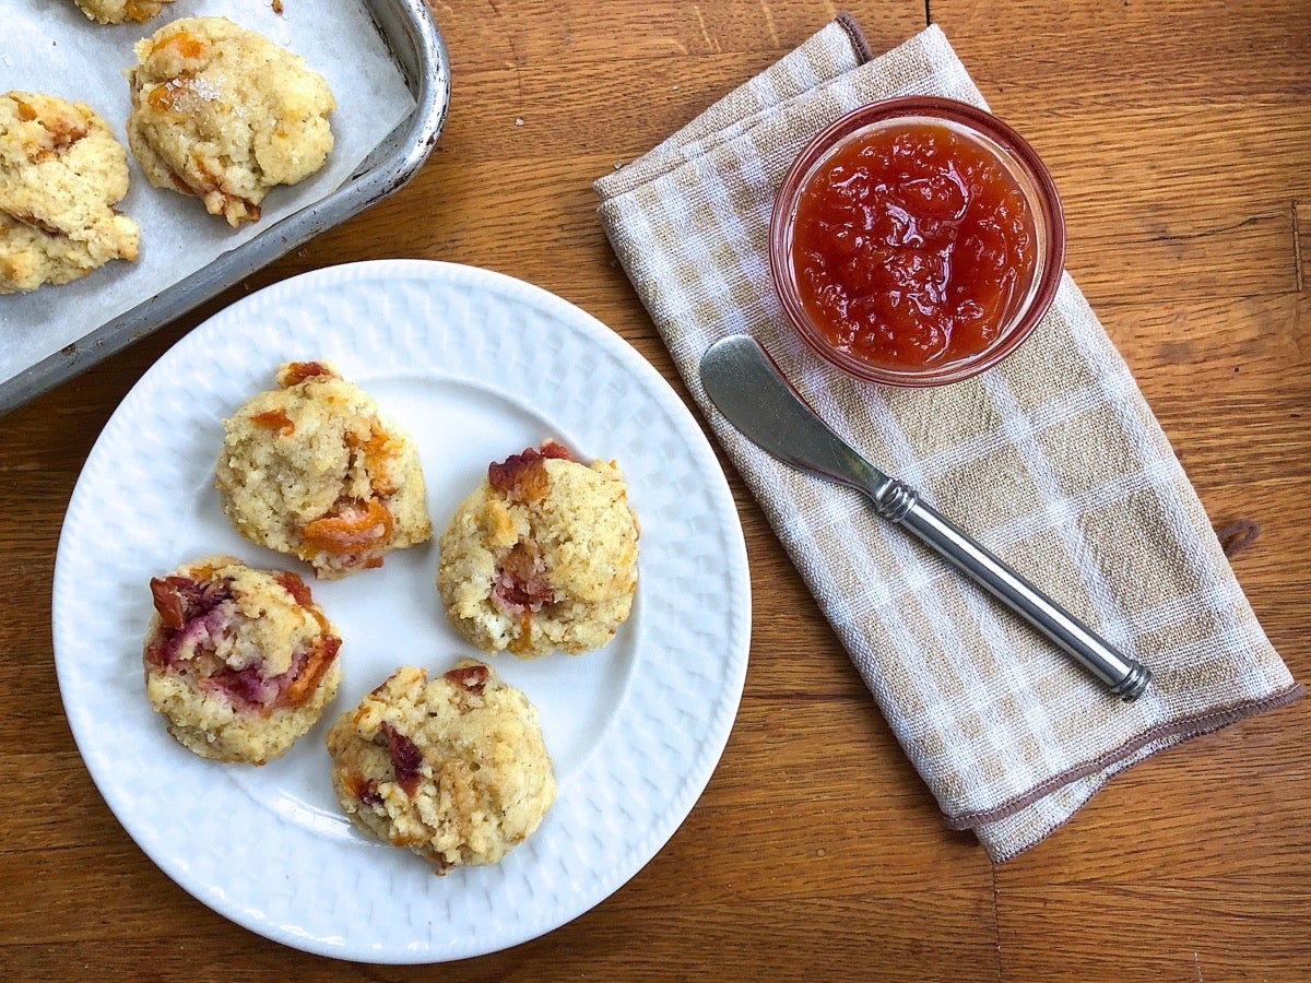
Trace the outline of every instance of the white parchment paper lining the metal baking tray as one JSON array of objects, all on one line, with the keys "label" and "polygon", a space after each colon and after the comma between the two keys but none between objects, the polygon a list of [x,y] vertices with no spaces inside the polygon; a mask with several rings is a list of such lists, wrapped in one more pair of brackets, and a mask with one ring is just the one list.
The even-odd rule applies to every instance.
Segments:
[{"label": "white parchment paper lining the metal baking tray", "polygon": [[114,317],[279,219],[326,198],[414,110],[414,97],[364,7],[341,0],[177,0],[148,24],[102,26],[72,0],[0,0],[0,92],[47,92],[87,102],[127,145],[126,71],[132,45],[178,17],[225,16],[302,55],[337,98],[336,138],[325,166],[299,185],[277,187],[257,223],[233,229],[195,198],[152,187],[128,153],[131,189],[119,210],[140,225],[140,257],[111,262],[63,286],[0,295],[0,381],[72,345]]}]

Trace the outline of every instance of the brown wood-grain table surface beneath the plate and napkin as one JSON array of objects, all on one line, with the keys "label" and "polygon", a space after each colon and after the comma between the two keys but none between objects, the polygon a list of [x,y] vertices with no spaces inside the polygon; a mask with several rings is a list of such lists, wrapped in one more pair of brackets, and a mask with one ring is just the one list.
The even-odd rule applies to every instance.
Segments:
[{"label": "brown wood-grain table surface beneath the plate and napkin", "polygon": [[[754,616],[728,748],[656,858],[545,937],[433,967],[284,948],[155,868],[83,767],[51,653],[55,548],[88,451],[155,359],[267,283],[422,257],[566,298],[686,395],[597,222],[591,182],[838,9],[434,3],[454,98],[410,185],[0,419],[0,976],[1311,978],[1311,701],[1138,764],[992,866],[945,828],[732,469]],[[941,25],[994,110],[1042,153],[1066,206],[1070,271],[1215,526],[1257,524],[1234,568],[1294,676],[1311,678],[1311,4],[846,9],[876,51]]]}]

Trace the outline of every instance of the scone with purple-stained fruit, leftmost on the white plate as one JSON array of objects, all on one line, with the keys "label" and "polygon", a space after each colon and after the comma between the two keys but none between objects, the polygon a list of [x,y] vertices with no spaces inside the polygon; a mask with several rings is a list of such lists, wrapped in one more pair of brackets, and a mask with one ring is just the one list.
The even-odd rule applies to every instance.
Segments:
[{"label": "scone with purple-stained fruit, leftmost on the white plate", "polygon": [[296,574],[211,556],[151,578],[151,594],[146,693],[201,758],[278,758],[336,696],[341,638]]}]

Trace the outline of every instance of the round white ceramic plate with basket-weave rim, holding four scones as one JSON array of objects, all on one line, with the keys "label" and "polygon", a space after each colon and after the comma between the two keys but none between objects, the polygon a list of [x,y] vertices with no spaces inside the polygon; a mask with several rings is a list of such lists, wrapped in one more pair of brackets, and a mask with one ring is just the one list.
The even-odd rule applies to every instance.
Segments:
[{"label": "round white ceramic plate with basket-weave rim, holding four scones", "polygon": [[[439,532],[490,460],[553,436],[615,459],[641,522],[637,598],[604,649],[493,658],[541,714],[558,796],[490,868],[437,877],[342,817],[324,733],[399,665],[477,654],[446,624],[437,544],[380,570],[315,582],[343,637],[337,701],[262,768],[202,760],[148,705],[148,582],[228,552],[296,561],[240,539],[219,511],[222,419],[286,360],[330,359],[416,438]],[[700,796],[746,675],[750,585],[724,473],[687,408],[619,336],[507,277],[382,261],[254,294],[191,332],[136,384],[96,442],[64,520],[55,661],[77,746],[142,849],[215,911],[308,952],[437,962],[534,938],[642,868]]]}]

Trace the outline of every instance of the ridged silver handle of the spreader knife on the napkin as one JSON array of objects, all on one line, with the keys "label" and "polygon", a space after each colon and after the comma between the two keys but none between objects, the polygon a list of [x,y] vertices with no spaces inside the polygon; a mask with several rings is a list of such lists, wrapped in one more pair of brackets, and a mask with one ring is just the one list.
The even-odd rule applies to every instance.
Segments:
[{"label": "ridged silver handle of the spreader knife on the napkin", "polygon": [[919,501],[914,489],[888,478],[871,489],[874,509],[927,544],[1066,654],[1100,679],[1126,703],[1142,696],[1151,670],[1117,651],[1068,611],[998,560],[935,509]]}]

